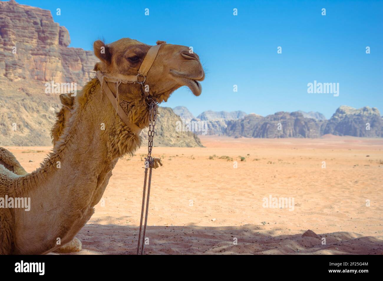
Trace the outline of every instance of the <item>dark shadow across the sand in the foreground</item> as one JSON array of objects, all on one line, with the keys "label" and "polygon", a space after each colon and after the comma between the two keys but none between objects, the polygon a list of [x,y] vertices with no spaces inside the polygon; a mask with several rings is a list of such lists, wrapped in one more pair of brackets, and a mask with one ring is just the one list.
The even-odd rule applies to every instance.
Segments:
[{"label": "dark shadow across the sand in the foreground", "polygon": [[[280,229],[279,229],[280,230]],[[138,227],[89,223],[77,234],[83,250],[71,254],[136,254]],[[146,254],[383,254],[383,237],[354,232],[277,235],[263,226],[148,226]],[[322,245],[322,237],[326,245]],[[237,245],[234,240],[237,239]]]}]

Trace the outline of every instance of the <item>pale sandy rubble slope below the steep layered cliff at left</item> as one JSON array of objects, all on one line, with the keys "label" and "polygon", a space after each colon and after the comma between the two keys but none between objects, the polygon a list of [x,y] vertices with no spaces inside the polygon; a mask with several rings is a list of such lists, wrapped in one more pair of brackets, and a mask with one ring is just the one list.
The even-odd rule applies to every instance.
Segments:
[{"label": "pale sandy rubble slope below the steep layered cliff at left", "polygon": [[0,80],[0,146],[52,145],[49,131],[61,104],[43,86],[36,80]]}]

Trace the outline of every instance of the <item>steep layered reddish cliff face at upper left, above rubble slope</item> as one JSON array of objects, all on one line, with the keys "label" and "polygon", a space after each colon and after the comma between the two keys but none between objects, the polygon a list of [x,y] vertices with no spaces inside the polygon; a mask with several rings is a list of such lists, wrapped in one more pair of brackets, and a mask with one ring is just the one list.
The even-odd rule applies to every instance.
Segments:
[{"label": "steep layered reddish cliff face at upper left, above rubble slope", "polygon": [[77,83],[80,89],[97,59],[92,51],[69,44],[68,30],[53,21],[50,11],[0,2],[0,77]]}]

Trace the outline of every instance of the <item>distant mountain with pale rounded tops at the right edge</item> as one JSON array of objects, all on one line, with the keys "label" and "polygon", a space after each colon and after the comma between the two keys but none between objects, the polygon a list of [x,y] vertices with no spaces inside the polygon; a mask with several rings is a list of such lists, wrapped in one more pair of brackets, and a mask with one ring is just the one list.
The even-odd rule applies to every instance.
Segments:
[{"label": "distant mountain with pale rounded tops at the right edge", "polygon": [[376,107],[365,106],[355,109],[340,106],[328,120],[324,133],[338,136],[383,137],[383,120]]}]

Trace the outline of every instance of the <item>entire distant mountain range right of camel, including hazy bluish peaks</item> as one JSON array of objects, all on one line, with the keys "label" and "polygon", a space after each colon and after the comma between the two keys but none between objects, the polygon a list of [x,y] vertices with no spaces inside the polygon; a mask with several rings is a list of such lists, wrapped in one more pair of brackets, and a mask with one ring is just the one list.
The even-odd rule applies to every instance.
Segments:
[{"label": "entire distant mountain range right of camel, including hazy bluish peaks", "polygon": [[[197,118],[186,107],[173,109],[181,118],[207,123],[208,135],[252,138],[319,138],[338,136],[383,137],[383,119],[376,107],[340,106],[329,120],[319,112],[276,112],[265,117],[242,111],[202,112]],[[201,134],[201,132],[196,132]]]}]

